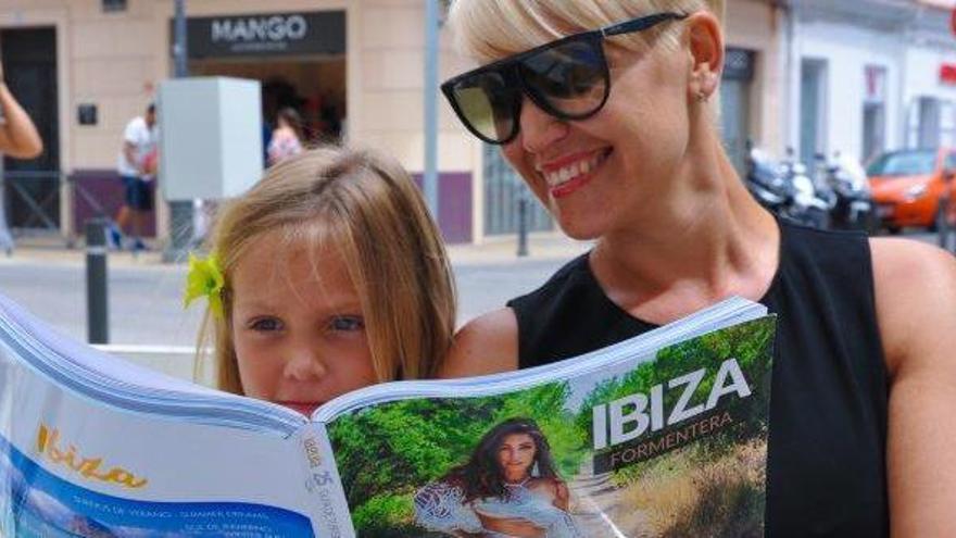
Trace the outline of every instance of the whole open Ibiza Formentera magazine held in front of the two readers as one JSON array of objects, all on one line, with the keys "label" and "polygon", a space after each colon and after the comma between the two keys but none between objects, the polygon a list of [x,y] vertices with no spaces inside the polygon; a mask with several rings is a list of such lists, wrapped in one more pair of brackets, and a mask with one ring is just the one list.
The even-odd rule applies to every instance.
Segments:
[{"label": "whole open Ibiza Formentera magazine held in front of the two readers", "polygon": [[732,298],[573,360],[378,385],[306,417],[0,298],[0,536],[763,536],[775,330]]}]

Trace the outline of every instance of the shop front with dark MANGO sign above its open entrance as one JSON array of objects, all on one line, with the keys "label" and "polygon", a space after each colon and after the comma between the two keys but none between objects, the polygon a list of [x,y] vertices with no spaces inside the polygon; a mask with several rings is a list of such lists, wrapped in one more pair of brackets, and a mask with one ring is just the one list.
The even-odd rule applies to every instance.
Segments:
[{"label": "shop front with dark MANGO sign above its open entrance", "polygon": [[190,75],[262,84],[264,151],[284,109],[301,118],[306,142],[343,135],[344,11],[196,17],[187,27]]}]

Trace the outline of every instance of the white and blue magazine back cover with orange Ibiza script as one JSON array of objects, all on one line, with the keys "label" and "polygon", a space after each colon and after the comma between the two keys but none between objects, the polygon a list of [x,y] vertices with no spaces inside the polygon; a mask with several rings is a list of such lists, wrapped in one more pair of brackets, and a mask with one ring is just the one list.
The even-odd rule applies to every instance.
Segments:
[{"label": "white and blue magazine back cover with orange Ibiza script", "polygon": [[298,435],[123,411],[0,342],[0,536],[315,536]]}]

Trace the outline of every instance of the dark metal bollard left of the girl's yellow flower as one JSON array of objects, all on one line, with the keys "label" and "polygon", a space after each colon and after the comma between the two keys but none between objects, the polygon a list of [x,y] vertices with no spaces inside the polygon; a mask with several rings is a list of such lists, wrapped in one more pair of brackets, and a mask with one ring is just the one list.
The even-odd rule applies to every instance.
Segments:
[{"label": "dark metal bollard left of the girl's yellow flower", "polygon": [[106,218],[86,222],[86,320],[90,343],[110,343],[106,290]]}]

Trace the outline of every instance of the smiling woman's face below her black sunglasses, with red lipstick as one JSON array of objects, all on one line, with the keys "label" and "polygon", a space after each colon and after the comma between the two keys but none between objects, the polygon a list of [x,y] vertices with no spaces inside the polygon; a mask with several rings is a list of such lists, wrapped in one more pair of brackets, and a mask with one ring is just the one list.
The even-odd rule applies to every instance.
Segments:
[{"label": "smiling woman's face below her black sunglasses, with red lipstick", "polygon": [[[625,50],[605,42],[611,96],[594,116],[563,122],[527,97],[505,159],[566,234],[589,239],[652,222],[688,149],[684,50]],[[637,210],[637,211],[636,211]]]}]

